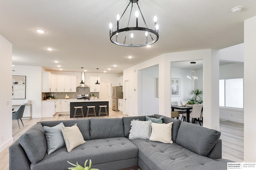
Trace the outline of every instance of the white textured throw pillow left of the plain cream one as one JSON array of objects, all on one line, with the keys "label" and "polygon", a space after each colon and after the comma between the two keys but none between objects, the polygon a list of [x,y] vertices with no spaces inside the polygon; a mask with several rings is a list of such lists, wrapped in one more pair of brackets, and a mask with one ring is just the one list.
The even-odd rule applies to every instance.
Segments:
[{"label": "white textured throw pillow left of the plain cream one", "polygon": [[131,121],[131,130],[129,139],[149,139],[151,121]]}]

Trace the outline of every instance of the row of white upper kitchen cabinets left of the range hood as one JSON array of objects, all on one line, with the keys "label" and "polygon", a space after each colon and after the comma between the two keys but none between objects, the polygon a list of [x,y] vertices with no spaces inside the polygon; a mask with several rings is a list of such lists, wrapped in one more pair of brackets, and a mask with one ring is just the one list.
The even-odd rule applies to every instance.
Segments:
[{"label": "row of white upper kitchen cabinets left of the range hood", "polygon": [[76,76],[42,72],[42,92],[76,92]]}]

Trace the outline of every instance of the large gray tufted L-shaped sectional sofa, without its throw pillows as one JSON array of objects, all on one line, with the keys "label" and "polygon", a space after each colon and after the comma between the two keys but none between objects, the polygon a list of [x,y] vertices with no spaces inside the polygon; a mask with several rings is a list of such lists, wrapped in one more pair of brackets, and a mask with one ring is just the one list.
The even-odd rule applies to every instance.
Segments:
[{"label": "large gray tufted L-shaped sectional sofa, without its throw pillows", "polygon": [[[71,167],[67,161],[83,165],[86,159],[91,159],[92,168],[100,170],[128,170],[136,166],[142,170],[226,170],[227,162],[232,162],[222,159],[218,131],[164,116],[163,123],[173,122],[174,143],[129,140],[134,119],[146,120],[145,116],[136,116],[38,122],[10,146],[9,169],[67,170]],[[77,123],[86,143],[71,152],[64,146],[47,154],[43,126],[53,127],[61,122],[65,127]],[[20,145],[20,142],[27,145]]]}]

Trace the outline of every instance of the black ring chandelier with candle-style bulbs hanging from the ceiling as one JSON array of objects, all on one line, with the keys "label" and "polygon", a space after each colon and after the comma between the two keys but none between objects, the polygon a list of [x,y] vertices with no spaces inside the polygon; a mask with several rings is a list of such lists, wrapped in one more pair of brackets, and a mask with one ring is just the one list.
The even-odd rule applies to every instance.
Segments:
[{"label": "black ring chandelier with candle-style bulbs hanging from the ceiling", "polygon": [[[124,16],[124,13],[126,12],[128,6],[124,10],[124,13],[122,14],[121,17],[119,16],[119,14],[117,14],[117,16],[116,16],[117,24],[114,28],[112,28],[112,23],[109,24],[110,41],[112,43],[114,43],[116,45],[121,45],[124,47],[144,47],[144,46],[151,45],[158,40],[159,35],[158,35],[158,24],[156,24],[156,20],[157,20],[156,16],[154,16],[154,29],[149,29],[148,25],[144,19],[144,16],[142,15],[142,12],[140,10],[138,1],[139,0],[130,0],[130,2],[128,3],[128,6],[131,5],[131,10],[130,10],[127,27],[120,29],[119,23],[120,23],[121,18]],[[130,18],[131,18],[131,14],[132,14],[132,8],[133,8],[134,3],[136,3],[138,5],[138,10],[140,12],[140,15],[142,16],[145,27],[138,26],[138,16],[139,16],[138,10],[135,12],[136,27],[129,27]],[[130,33],[130,37],[131,37],[130,43],[126,43],[126,37],[127,37],[128,31],[131,32]],[[150,39],[152,41],[148,41],[148,35],[150,36]],[[124,39],[124,41],[120,42],[120,41],[118,41],[118,38]]]}]

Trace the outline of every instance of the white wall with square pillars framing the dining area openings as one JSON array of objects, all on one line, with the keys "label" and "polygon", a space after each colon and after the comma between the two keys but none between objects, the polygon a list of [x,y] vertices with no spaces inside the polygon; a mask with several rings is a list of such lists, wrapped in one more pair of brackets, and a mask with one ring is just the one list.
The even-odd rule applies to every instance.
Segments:
[{"label": "white wall with square pillars framing the dining area openings", "polygon": [[[129,80],[130,89],[138,89],[138,72],[159,64],[159,114],[170,117],[170,79],[172,61],[203,60],[204,126],[219,129],[219,58],[212,49],[167,53],[154,57],[124,70],[124,81]],[[137,90],[138,91],[138,90]],[[143,95],[143,94],[142,94]],[[138,92],[130,90],[129,115],[139,115]]]}]

